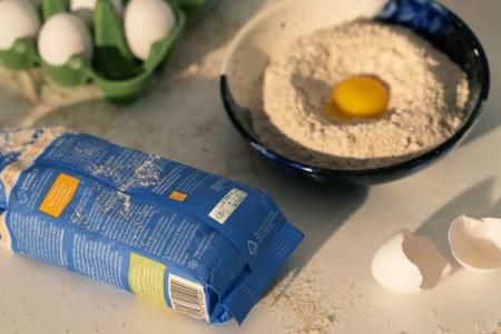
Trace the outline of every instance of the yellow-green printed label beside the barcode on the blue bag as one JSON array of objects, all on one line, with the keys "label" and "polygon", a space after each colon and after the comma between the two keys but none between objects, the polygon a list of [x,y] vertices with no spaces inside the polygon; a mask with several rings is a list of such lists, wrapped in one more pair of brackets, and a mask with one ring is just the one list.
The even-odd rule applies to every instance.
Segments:
[{"label": "yellow-green printed label beside the barcode on the blue bag", "polygon": [[129,262],[130,289],[148,301],[166,305],[164,287],[166,269],[165,264],[131,253]]}]

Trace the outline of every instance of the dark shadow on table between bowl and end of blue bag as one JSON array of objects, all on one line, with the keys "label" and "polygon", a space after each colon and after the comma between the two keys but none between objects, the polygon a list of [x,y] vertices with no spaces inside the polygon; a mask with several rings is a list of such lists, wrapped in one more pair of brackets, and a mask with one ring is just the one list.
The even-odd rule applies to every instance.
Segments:
[{"label": "dark shadow on table between bowl and end of blue bag", "polygon": [[303,243],[281,271],[277,281],[282,281],[289,273],[294,273],[294,276],[301,273],[336,230],[363,205],[370,188],[341,181],[317,184],[252,154],[254,174],[258,177],[254,183],[272,194],[285,216],[305,235]]}]

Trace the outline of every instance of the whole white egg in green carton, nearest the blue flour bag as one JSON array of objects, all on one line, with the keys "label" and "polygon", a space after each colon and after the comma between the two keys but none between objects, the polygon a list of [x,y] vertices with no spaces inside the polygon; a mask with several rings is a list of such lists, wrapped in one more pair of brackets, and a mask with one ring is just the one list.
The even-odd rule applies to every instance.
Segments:
[{"label": "whole white egg in green carton, nearest the blue flour bag", "polygon": [[38,51],[41,59],[52,66],[63,66],[73,55],[92,59],[92,40],[82,20],[71,13],[51,17],[40,30]]}]

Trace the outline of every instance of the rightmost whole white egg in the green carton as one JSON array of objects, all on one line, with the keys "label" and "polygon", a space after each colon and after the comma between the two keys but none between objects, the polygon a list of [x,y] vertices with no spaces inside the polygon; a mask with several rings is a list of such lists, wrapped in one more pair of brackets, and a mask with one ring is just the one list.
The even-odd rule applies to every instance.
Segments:
[{"label": "rightmost whole white egg in the green carton", "polygon": [[134,56],[146,60],[151,46],[176,26],[173,9],[164,0],[131,0],[125,11],[127,43]]}]

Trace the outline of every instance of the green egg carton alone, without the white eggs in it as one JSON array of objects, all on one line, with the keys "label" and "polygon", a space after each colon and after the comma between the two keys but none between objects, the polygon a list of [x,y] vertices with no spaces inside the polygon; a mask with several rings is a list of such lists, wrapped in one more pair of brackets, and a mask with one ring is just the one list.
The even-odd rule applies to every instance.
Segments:
[{"label": "green egg carton alone, without the white eggs in it", "polygon": [[[212,0],[167,1],[176,16],[176,27],[169,36],[151,47],[145,61],[135,58],[125,38],[124,23],[115,13],[110,0],[98,0],[94,10],[91,36],[94,58],[88,61],[81,55],[72,56],[65,66],[46,63],[37,52],[36,41],[22,38],[10,50],[0,51],[0,62],[12,71],[41,67],[61,87],[78,87],[92,81],[106,98],[115,102],[129,102],[140,96],[155,70],[166,60],[186,26],[186,12],[206,8]],[[42,0],[40,17],[47,21],[51,16],[68,11],[66,0]]]}]

